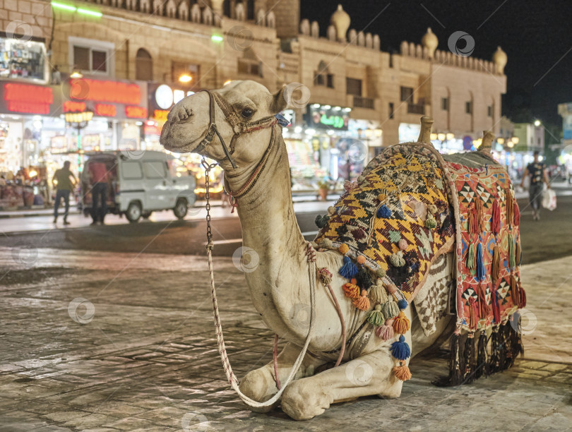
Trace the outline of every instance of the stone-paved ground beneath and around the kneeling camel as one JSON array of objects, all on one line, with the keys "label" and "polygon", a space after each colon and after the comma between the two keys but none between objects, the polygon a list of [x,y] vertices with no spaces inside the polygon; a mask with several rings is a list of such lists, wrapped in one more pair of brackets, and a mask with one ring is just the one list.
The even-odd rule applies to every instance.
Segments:
[{"label": "stone-paved ground beneath and around the kneeling camel", "polygon": [[[296,422],[250,412],[227,385],[204,258],[0,248],[0,431],[571,430],[572,312],[559,295],[568,261],[523,268],[534,316],[511,370],[436,388],[446,360],[415,358],[398,400],[367,397]],[[244,376],[270,361],[273,337],[232,260],[215,266],[230,360]]]}]

